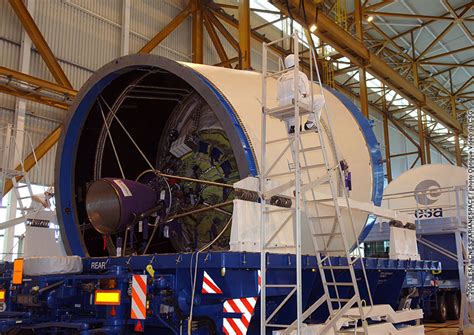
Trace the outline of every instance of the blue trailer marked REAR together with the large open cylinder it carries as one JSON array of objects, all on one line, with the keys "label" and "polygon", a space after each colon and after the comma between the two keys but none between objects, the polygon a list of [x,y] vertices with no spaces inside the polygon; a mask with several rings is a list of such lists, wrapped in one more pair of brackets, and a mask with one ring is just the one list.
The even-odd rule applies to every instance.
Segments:
[{"label": "blue trailer marked REAR together with the large open cylinder it carries", "polygon": [[[56,159],[58,224],[65,251],[72,256],[25,258],[3,265],[0,332],[259,334],[262,200],[273,212],[265,224],[272,249],[279,250],[267,257],[266,314],[279,328],[293,322],[294,295],[285,299],[296,286],[297,237],[295,222],[285,221],[282,211],[295,208],[294,194],[288,189],[265,199],[255,187],[262,174],[261,79],[257,72],[176,63],[152,55],[119,58],[91,76],[70,108]],[[333,201],[311,209],[324,210],[321,218],[328,219],[345,192],[350,200],[342,206],[341,231],[353,233],[344,243],[327,241],[331,248],[324,257],[331,260],[323,265],[331,269],[325,276],[339,286],[349,282],[344,277],[351,268],[344,264],[347,250],[364,241],[374,214],[397,214],[377,207],[383,162],[369,122],[341,94],[314,86],[315,92],[324,92],[332,131],[323,116],[319,131],[330,153],[327,158],[320,150],[312,154],[319,163],[311,167],[308,178],[327,176],[320,163],[326,160],[338,169],[344,166],[345,173],[335,181],[337,194],[328,183],[318,187],[317,202],[328,196]],[[269,104],[276,106],[276,79],[268,80],[268,92]],[[267,139],[277,144],[267,154],[280,159],[265,182],[278,189],[294,183],[288,163],[293,158],[285,145],[285,122],[271,119],[268,130]],[[332,221],[321,225],[322,237],[331,233]],[[304,227],[308,230],[308,223]],[[302,262],[307,307],[319,301],[325,286],[312,235],[309,230],[302,235],[302,253],[311,255]],[[373,303],[392,312],[411,306],[410,287],[431,285],[423,280],[424,274],[441,269],[438,262],[358,257],[353,266],[367,305],[369,287]],[[335,278],[330,277],[332,271]],[[342,311],[352,306],[351,285],[338,287]],[[278,309],[283,301],[288,303]],[[320,304],[306,321],[326,321],[326,306],[330,305]],[[358,312],[364,317],[362,308]],[[421,311],[411,314],[414,318],[408,319],[399,313],[385,326],[421,318]],[[358,326],[358,321],[351,322]]]}]

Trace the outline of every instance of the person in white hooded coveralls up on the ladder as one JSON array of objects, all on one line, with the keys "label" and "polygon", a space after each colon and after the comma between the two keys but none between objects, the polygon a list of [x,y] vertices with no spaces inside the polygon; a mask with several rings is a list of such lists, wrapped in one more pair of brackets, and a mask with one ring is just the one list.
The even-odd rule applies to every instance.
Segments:
[{"label": "person in white hooded coveralls up on the ladder", "polygon": [[[295,66],[295,55],[291,54],[285,58],[285,67],[287,69]],[[298,60],[299,61],[299,60]],[[278,78],[278,104],[280,106],[290,105],[293,103],[295,97],[294,94],[294,71],[289,71]],[[298,71],[298,94],[301,104],[311,106],[311,89],[309,86],[309,80],[306,74]],[[313,113],[308,114],[308,120],[304,125],[305,130],[316,129],[315,117],[318,119],[321,117],[321,109],[324,106],[324,97],[321,94],[313,95]],[[289,117],[287,120],[289,133],[295,132],[295,118]]]}]

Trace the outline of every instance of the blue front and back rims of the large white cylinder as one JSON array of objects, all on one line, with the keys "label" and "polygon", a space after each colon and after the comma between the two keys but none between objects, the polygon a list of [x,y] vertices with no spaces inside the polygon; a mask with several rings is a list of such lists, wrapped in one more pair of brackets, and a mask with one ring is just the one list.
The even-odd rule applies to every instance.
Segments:
[{"label": "blue front and back rims of the large white cylinder", "polygon": [[[233,106],[207,78],[193,68],[154,55],[132,55],[121,57],[98,70],[81,88],[74,104],[69,109],[69,120],[62,132],[56,159],[56,195],[57,214],[61,227],[62,240],[66,251],[72,255],[90,256],[82,237],[80,218],[78,216],[78,194],[76,174],[85,169],[87,162],[78,158],[78,147],[81,136],[87,130],[86,121],[92,117],[92,108],[104,90],[120,81],[122,77],[130,75],[133,71],[157,69],[171,74],[173,78],[181,80],[203,97],[219,119],[236,157],[241,178],[257,176],[257,160],[251,147],[251,141],[243,128]],[[381,153],[375,135],[369,122],[363,117],[357,107],[338,92],[332,92],[350,110],[357,120],[364,138],[367,142],[371,156],[373,201],[380,203],[383,188],[383,166]],[[138,117],[138,116],[137,116]],[[365,237],[374,219],[367,220],[365,229],[360,236]]]}]

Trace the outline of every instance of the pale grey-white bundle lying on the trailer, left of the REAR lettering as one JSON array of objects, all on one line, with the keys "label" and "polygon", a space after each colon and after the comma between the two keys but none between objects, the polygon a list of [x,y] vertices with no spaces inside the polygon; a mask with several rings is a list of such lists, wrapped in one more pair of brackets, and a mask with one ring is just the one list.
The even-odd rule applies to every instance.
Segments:
[{"label": "pale grey-white bundle lying on the trailer, left of the REAR lettering", "polygon": [[26,276],[45,276],[82,272],[79,256],[29,257],[24,259],[23,273]]}]

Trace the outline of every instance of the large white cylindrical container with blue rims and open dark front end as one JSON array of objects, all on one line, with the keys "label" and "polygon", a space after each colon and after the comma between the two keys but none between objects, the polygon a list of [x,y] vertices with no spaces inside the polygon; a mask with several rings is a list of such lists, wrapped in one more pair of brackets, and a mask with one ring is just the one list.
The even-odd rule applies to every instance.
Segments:
[{"label": "large white cylindrical container with blue rims and open dark front end", "polygon": [[[276,106],[276,80],[268,85],[269,104]],[[85,211],[87,187],[94,180],[119,177],[135,180],[150,169],[150,165],[170,174],[227,184],[247,176],[257,177],[261,91],[262,76],[257,72],[177,63],[151,55],[122,57],[97,71],[80,90],[70,109],[57,156],[58,216],[68,252],[96,256],[103,255],[107,247],[103,247],[103,237],[90,229]],[[318,85],[314,85],[314,91],[320,93]],[[329,138],[326,132],[329,121],[323,113],[323,132],[329,143],[331,165],[338,164],[334,153],[337,148],[339,157],[347,162],[351,172],[350,198],[378,205],[383,166],[371,125],[340,93],[325,89],[324,95],[333,130],[333,137]],[[271,119],[267,129],[268,140],[287,137],[286,126],[280,120]],[[282,141],[280,146],[269,147],[268,156],[277,157],[287,143]],[[309,147],[311,143],[305,145]],[[320,153],[311,156],[314,165],[322,163],[322,159]],[[273,169],[272,181],[284,183],[290,178],[285,173],[291,169],[291,161],[288,151]],[[323,167],[313,169],[311,178],[324,173]],[[342,185],[340,181],[340,191]],[[196,204],[209,206],[231,199],[226,192],[212,187],[191,187],[176,181],[163,187],[173,195],[169,215],[178,208],[192,209],[197,208]],[[329,190],[323,187],[319,192],[329,193]],[[198,221],[196,226],[208,224],[205,232],[212,238],[215,228],[225,223],[231,211],[231,206],[223,207],[213,211],[214,216],[197,216],[193,222]],[[350,224],[348,213],[343,214],[345,224]],[[355,235],[361,242],[374,218],[357,211],[353,217]],[[189,235],[189,226],[190,221],[186,221],[180,222],[179,229],[170,227],[171,236]],[[328,229],[331,229],[329,224]],[[347,227],[347,230],[352,228]],[[169,238],[168,230],[157,234]],[[111,236],[109,243],[116,237]],[[348,239],[351,245],[356,243],[354,235],[349,234]],[[171,247],[159,249],[155,245],[153,250],[192,251],[205,242],[195,239],[193,244],[189,238],[178,240],[179,243],[175,240]],[[224,245],[221,247],[225,249]]]}]

